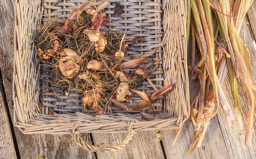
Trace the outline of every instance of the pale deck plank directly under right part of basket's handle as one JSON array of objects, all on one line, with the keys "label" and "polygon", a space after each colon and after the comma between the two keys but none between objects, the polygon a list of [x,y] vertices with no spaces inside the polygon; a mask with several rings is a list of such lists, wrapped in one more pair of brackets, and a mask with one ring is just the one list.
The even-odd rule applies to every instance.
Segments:
[{"label": "pale deck plank directly under right part of basket's handle", "polygon": [[[95,145],[114,145],[125,138],[125,133],[92,134]],[[164,158],[156,131],[137,132],[129,144],[122,149],[109,153],[97,153],[100,158]]]}]

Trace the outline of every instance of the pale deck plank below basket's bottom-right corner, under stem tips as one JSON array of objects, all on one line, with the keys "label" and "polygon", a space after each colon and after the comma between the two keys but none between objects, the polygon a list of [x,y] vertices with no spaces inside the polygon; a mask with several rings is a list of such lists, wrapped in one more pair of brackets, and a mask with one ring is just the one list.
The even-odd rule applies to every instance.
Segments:
[{"label": "pale deck plank below basket's bottom-right corner, under stem tips", "polygon": [[[191,55],[188,55],[188,58],[191,59]],[[195,96],[197,87],[198,83],[196,81],[190,83],[190,100]],[[192,121],[188,120],[177,142],[172,146],[177,132],[178,130],[172,130],[170,133],[168,131],[160,131],[167,158],[186,158],[196,130],[192,125]],[[201,146],[199,148],[195,147],[187,158],[229,158],[217,117],[210,120],[210,125],[207,128]]]}]

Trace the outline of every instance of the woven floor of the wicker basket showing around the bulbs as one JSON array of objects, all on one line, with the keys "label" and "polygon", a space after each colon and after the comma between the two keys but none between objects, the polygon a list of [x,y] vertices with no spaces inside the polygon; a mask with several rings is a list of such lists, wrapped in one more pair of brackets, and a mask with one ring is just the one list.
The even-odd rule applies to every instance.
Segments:
[{"label": "woven floor of the wicker basket showing around the bulbs", "polygon": [[[45,1],[44,13],[42,20],[49,21],[56,18],[66,18],[70,11],[80,5],[84,0],[81,1],[63,1],[63,3],[51,3],[52,1]],[[146,40],[143,43],[132,45],[126,52],[128,55],[138,56],[141,54],[148,54],[154,48],[157,48],[155,57],[149,57],[144,64],[151,60],[157,60],[158,56],[162,57],[162,25],[161,25],[161,1],[129,1],[123,2],[124,13],[120,16],[114,16],[115,2],[110,1],[110,5],[107,7],[106,13],[111,22],[107,24],[107,29],[113,29],[113,31],[120,32],[121,34],[126,33],[127,38],[144,37]],[[92,6],[96,6],[100,2],[91,3]],[[52,6],[54,5],[54,6]],[[152,7],[153,6],[153,7]],[[151,8],[149,8],[151,7]],[[67,12],[68,11],[68,12]],[[106,29],[105,28],[105,29]],[[152,66],[153,67],[153,66]],[[51,75],[51,69],[47,66],[42,66],[42,113],[48,114],[48,111],[65,113],[65,112],[85,112],[93,113],[93,110],[84,110],[84,104],[81,96],[76,93],[75,89],[67,87],[58,87],[54,82],[49,80]],[[149,78],[155,83],[158,89],[163,87],[163,68],[162,64],[157,70],[152,73]],[[147,82],[140,83],[138,90],[144,91],[147,94],[152,94],[154,90],[152,86]],[[65,95],[68,93],[68,95]],[[136,105],[142,99],[138,95],[133,96],[133,105]],[[163,112],[163,97],[153,103],[155,111]],[[144,112],[150,113],[150,108],[143,109]],[[111,109],[106,109],[107,113],[126,112],[116,105],[111,105]],[[131,111],[141,112],[141,111]]]}]

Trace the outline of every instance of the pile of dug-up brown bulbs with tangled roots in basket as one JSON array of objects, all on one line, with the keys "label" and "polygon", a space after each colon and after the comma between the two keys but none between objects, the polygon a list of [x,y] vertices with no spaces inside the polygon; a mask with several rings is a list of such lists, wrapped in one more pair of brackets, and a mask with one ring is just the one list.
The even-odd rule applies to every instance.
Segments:
[{"label": "pile of dug-up brown bulbs with tangled roots in basket", "polygon": [[[53,20],[40,27],[34,40],[41,64],[52,68],[51,80],[57,85],[68,84],[75,87],[76,92],[83,96],[85,109],[101,114],[110,102],[127,112],[149,105],[155,117],[151,102],[170,90],[171,86],[157,90],[148,77],[158,67],[160,58],[145,66],[140,64],[154,55],[156,49],[151,54],[129,59],[126,55],[128,45],[142,42],[145,38],[125,40],[125,34],[100,30],[110,21],[104,13],[100,13],[109,2],[105,1],[96,8],[82,11],[89,3],[78,6],[65,23]],[[76,20],[72,20],[72,17]],[[153,64],[155,67],[146,70]],[[137,83],[145,79],[156,90],[151,96],[134,90]],[[131,92],[141,96],[145,102],[135,108],[122,103],[132,103]],[[154,119],[142,117],[145,120]]]}]

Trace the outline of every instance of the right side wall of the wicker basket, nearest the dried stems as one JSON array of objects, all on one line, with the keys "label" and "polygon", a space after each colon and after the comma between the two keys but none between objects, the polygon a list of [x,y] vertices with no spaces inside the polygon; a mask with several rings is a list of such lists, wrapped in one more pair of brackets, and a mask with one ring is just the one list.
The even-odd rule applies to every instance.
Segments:
[{"label": "right side wall of the wicker basket, nearest the dried stems", "polygon": [[183,123],[183,117],[189,116],[186,6],[187,1],[163,1],[164,82],[167,84],[167,78],[171,77],[173,84],[173,90],[165,95],[165,109],[172,116],[178,116],[177,123]]}]

